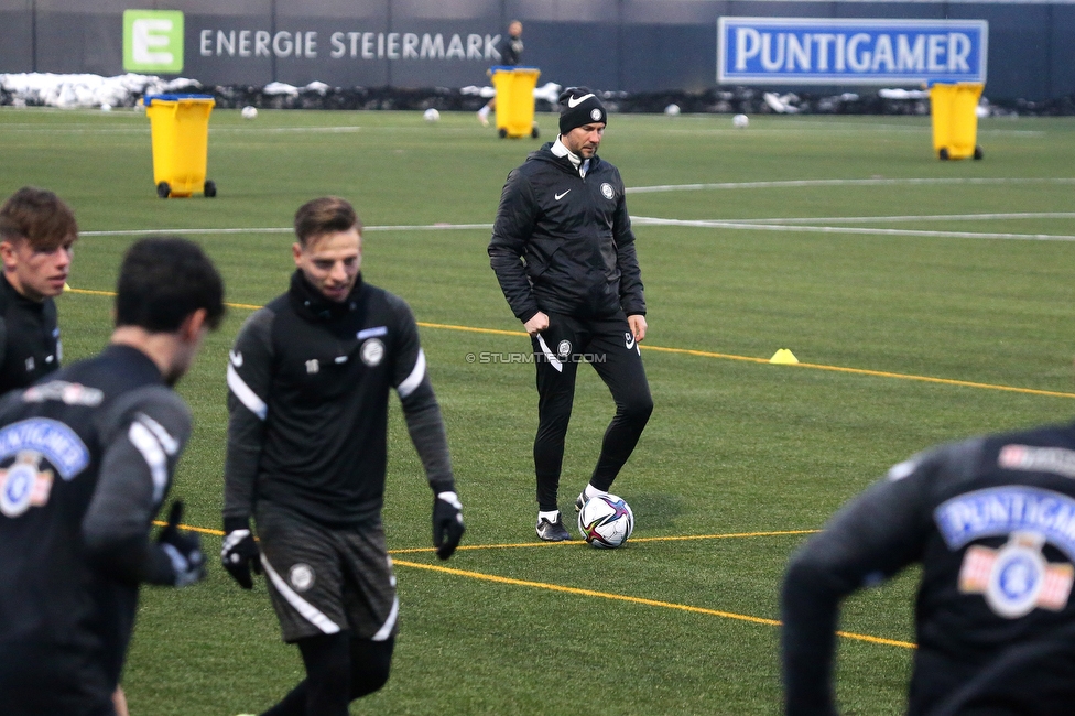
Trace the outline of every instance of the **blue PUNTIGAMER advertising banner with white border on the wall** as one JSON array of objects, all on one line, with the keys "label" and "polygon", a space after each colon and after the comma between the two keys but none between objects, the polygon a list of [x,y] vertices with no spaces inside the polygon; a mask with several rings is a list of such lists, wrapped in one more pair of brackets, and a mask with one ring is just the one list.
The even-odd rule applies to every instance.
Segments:
[{"label": "blue PUNTIGAMER advertising banner with white border on the wall", "polygon": [[986,82],[985,20],[720,18],[724,85]]}]

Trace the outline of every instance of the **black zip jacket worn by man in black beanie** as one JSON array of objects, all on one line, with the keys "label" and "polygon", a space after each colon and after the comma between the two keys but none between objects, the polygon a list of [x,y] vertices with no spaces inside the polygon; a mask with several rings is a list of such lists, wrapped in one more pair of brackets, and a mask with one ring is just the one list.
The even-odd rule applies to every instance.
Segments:
[{"label": "black zip jacket worn by man in black beanie", "polygon": [[520,321],[539,311],[645,315],[619,170],[595,155],[586,177],[552,142],[508,174],[489,241],[492,270]]}]

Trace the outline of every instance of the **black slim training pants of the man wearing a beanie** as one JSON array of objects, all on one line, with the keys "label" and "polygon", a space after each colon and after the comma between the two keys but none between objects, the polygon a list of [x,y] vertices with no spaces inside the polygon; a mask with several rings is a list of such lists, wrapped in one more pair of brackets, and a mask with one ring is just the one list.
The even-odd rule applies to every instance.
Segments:
[{"label": "black slim training pants of the man wearing a beanie", "polygon": [[564,438],[575,401],[579,362],[588,362],[601,377],[616,402],[616,415],[605,431],[601,453],[590,485],[608,490],[631,456],[653,412],[650,386],[627,316],[579,319],[547,314],[549,327],[531,338],[538,366],[538,436],[534,469],[538,508],[557,509],[556,493],[564,463]]}]

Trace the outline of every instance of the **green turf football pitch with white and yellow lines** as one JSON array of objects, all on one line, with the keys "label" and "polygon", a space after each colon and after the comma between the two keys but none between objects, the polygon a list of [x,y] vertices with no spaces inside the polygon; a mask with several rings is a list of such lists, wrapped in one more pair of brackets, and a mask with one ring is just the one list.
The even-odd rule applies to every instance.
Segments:
[{"label": "green turf football pitch with white and yellow lines", "polygon": [[[554,116],[539,123],[555,135]],[[637,528],[611,552],[534,544],[533,367],[467,355],[529,350],[486,246],[504,176],[540,142],[448,112],[220,110],[210,127],[219,196],[161,200],[143,115],[4,109],[0,194],[45,186],[76,209],[67,361],[107,340],[137,236],[191,231],[218,263],[243,307],[181,384],[196,424],[173,492],[206,530],[220,527],[227,349],[286,285],[298,205],[356,205],[366,280],[422,324],[468,528],[449,562],[428,551],[432,497],[393,402],[401,633],[388,686],[356,714],[779,713],[773,620],[803,532],[919,449],[1075,410],[1075,121],[984,120],[984,161],[940,162],[929,118],[740,131],[726,116],[613,116],[600,153],[638,217],[655,403],[613,488]],[[779,348],[804,365],[769,365]],[[612,412],[579,376],[567,513]],[[204,539],[216,554],[219,536]],[[134,716],[258,712],[301,679],[263,584],[242,592],[211,566],[193,588],[143,590],[123,679]],[[913,642],[915,578],[845,606],[841,629],[875,640],[840,639],[844,713],[903,712],[913,652],[884,640]]]}]

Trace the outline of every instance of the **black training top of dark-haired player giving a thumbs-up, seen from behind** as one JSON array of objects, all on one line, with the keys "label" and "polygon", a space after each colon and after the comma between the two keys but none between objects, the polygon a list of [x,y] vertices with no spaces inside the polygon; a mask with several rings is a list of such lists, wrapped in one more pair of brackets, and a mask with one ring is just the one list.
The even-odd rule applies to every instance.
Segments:
[{"label": "black training top of dark-haired player giving a thumbs-up, seen from behind", "polygon": [[138,584],[175,581],[149,532],[189,433],[186,405],[126,346],[0,402],[0,693],[43,683],[40,713],[110,698]]}]

